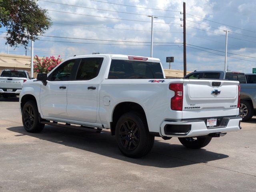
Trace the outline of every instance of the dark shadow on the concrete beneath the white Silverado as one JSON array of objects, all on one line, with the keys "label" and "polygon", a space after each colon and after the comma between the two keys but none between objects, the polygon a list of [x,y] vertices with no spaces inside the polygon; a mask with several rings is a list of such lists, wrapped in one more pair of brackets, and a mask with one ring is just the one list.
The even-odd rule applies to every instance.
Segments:
[{"label": "dark shadow on the concrete beneath the white Silverado", "polygon": [[[41,133],[36,134],[26,132],[22,126],[10,127],[7,130],[18,133],[16,136],[28,135],[143,166],[174,168],[228,158],[228,155],[205,149],[191,150],[182,145],[155,140],[150,154],[143,158],[132,159],[121,154],[114,136],[111,136],[108,131],[96,134],[56,126],[45,126]],[[172,139],[168,142],[172,142]]]}]

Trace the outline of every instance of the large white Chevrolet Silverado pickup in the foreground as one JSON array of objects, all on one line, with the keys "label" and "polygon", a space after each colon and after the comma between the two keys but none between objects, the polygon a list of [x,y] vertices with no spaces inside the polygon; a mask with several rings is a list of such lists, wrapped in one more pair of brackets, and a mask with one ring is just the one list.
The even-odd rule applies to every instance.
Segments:
[{"label": "large white Chevrolet Silverado pickup in the foreground", "polygon": [[236,81],[166,79],[157,58],[85,55],[25,82],[20,108],[28,132],[45,124],[106,128],[121,152],[136,158],[150,152],[155,136],[202,148],[240,130],[239,90]]}]

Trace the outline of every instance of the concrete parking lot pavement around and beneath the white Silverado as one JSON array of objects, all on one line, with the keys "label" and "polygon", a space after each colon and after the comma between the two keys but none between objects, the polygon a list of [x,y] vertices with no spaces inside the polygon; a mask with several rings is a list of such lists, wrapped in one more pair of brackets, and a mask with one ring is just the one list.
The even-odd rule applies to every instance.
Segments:
[{"label": "concrete parking lot pavement around and beneath the white Silverado", "polygon": [[25,132],[18,98],[1,97],[0,191],[255,192],[256,117],[203,149],[156,138],[148,156],[131,159],[108,130]]}]

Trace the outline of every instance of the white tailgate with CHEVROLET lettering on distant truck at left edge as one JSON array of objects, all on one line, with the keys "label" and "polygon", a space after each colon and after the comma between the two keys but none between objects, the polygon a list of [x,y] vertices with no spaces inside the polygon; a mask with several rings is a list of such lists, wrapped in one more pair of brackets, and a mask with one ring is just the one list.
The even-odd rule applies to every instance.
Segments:
[{"label": "white tailgate with CHEVROLET lettering on distant truck at left edge", "polygon": [[0,88],[21,89],[25,78],[0,77]]}]

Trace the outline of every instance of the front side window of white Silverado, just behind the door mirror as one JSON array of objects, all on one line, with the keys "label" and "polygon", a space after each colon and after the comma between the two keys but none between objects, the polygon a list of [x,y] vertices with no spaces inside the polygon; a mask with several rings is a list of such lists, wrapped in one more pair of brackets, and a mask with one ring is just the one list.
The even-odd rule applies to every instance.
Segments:
[{"label": "front side window of white Silverado, just behind the door mirror", "polygon": [[51,81],[68,81],[76,60],[68,60],[51,74]]}]

